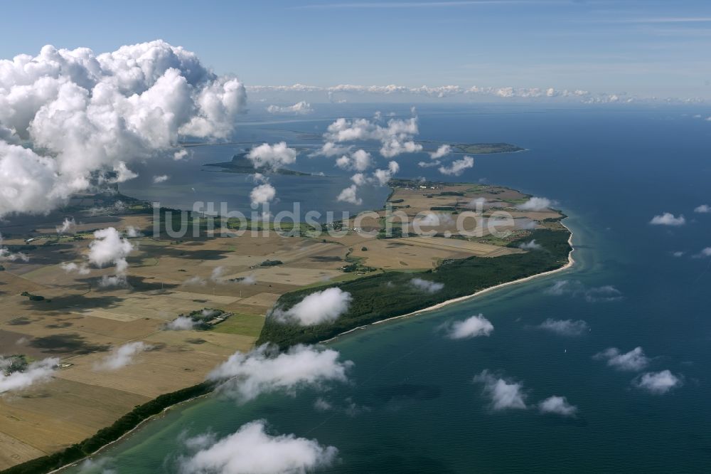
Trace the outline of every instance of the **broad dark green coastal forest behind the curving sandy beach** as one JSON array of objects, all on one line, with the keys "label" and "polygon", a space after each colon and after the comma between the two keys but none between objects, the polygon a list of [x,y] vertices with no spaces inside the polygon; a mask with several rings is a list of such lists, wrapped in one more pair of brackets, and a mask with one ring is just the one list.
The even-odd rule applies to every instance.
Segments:
[{"label": "broad dark green coastal forest behind the curving sandy beach", "polygon": [[[267,317],[257,344],[274,342],[282,348],[297,343],[311,344],[355,327],[422,310],[501,283],[555,270],[567,263],[568,253],[572,250],[568,244],[569,236],[570,233],[565,230],[539,229],[519,241],[511,242],[509,246],[516,247],[535,239],[542,250],[496,258],[447,260],[434,270],[419,273],[388,271],[330,285],[351,293],[353,300],[348,312],[334,322],[314,326],[284,323]],[[435,293],[427,293],[412,285],[412,278],[442,283],[444,288]],[[288,310],[313,292],[313,289],[307,289],[287,293],[279,298],[277,305]]]}]

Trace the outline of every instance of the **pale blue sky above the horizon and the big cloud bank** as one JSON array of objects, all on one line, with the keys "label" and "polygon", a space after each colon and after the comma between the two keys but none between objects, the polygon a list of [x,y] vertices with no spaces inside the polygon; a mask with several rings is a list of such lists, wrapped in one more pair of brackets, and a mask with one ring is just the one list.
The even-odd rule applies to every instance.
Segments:
[{"label": "pale blue sky above the horizon and the big cloud bank", "polygon": [[4,14],[1,58],[48,43],[103,52],[163,38],[247,85],[711,98],[710,1],[24,1]]}]

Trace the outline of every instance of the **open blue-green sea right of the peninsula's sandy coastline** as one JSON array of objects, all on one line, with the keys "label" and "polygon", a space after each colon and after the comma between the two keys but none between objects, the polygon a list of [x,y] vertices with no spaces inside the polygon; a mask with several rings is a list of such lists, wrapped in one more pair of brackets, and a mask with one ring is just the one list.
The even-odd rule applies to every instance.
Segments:
[{"label": "open blue-green sea right of the peninsula's sandy coastline", "polygon": [[[193,401],[100,459],[119,473],[174,472],[186,436],[225,436],[265,419],[274,432],[336,446],[339,462],[324,470],[332,473],[706,472],[711,272],[709,259],[692,256],[711,246],[711,216],[693,213],[711,204],[711,124],[693,119],[695,112],[419,107],[423,139],[530,149],[477,157],[460,179],[557,199],[574,231],[574,268],[338,339],[330,346],[355,363],[350,384],[241,406],[217,396]],[[323,122],[299,123],[289,130]],[[423,174],[419,159],[399,159],[400,175]],[[663,211],[685,214],[688,223],[648,225]],[[562,279],[584,289],[613,285],[622,297],[546,292]],[[495,326],[491,337],[453,341],[438,330],[479,312]],[[582,319],[591,331],[570,338],[535,328],[548,317]],[[670,369],[683,386],[653,396],[632,386],[636,373],[592,359],[606,347],[636,346],[652,357],[651,370]],[[530,404],[567,396],[579,415],[494,413],[472,381],[483,369],[523,383]],[[319,396],[342,409],[317,411]],[[358,413],[347,413],[350,403]]]}]

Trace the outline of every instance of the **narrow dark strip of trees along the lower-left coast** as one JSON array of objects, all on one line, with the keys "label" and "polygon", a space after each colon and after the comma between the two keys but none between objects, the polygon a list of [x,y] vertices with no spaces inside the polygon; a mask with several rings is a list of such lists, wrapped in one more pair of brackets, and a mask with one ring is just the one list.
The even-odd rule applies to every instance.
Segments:
[{"label": "narrow dark strip of trees along the lower-left coast", "polygon": [[196,396],[208,394],[212,391],[213,385],[203,382],[190,386],[186,389],[173,391],[170,394],[164,394],[156,399],[153,399],[145,404],[138,405],[128,414],[125,414],[111,426],[102,428],[94,436],[73,444],[69,448],[58,453],[43,456],[33,460],[28,460],[26,463],[15,465],[9,469],[3,470],[0,474],[39,474],[48,473],[51,470],[59,469],[65,465],[75,463],[82,458],[95,453],[103,446],[106,446],[113,441],[121,438],[124,434],[131,431],[133,428],[144,421],[146,418],[157,415],[164,409],[182,401],[193,399]]}]

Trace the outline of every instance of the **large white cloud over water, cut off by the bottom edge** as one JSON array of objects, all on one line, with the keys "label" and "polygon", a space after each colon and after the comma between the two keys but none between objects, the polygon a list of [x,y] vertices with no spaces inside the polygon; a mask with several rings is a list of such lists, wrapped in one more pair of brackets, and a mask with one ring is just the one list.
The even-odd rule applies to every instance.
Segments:
[{"label": "large white cloud over water, cut off by the bottom edge", "polygon": [[186,447],[196,452],[181,458],[183,474],[306,473],[327,468],[338,455],[336,448],[315,439],[270,434],[264,420],[242,425],[220,440],[209,433],[188,438]]}]

